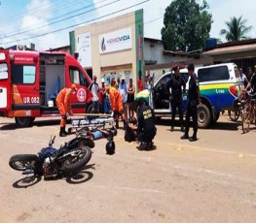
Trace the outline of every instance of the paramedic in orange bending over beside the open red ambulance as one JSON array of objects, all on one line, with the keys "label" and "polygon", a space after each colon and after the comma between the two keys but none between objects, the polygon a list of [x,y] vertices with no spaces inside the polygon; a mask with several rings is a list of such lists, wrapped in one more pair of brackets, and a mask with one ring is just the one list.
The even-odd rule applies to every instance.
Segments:
[{"label": "paramedic in orange bending over beside the open red ambulance", "polygon": [[60,117],[60,131],[59,136],[65,137],[67,132],[65,131],[67,113],[72,114],[70,105],[70,96],[73,92],[77,91],[77,86],[75,83],[71,87],[63,88],[56,96],[56,106],[61,115]]}]

